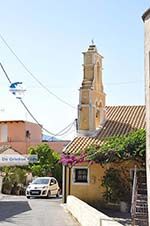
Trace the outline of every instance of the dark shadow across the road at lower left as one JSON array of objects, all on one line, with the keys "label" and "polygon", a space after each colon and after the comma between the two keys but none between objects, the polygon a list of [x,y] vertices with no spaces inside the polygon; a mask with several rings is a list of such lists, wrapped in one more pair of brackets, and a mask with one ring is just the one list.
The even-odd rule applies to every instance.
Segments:
[{"label": "dark shadow across the road at lower left", "polygon": [[0,221],[20,213],[31,210],[27,201],[1,201],[0,202]]}]

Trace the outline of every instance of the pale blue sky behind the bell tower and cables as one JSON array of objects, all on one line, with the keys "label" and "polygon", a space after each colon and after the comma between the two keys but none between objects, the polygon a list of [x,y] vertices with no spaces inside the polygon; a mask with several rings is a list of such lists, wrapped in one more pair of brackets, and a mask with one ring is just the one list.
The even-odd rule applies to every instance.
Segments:
[{"label": "pale blue sky behind the bell tower and cables", "polygon": [[[141,16],[149,0],[5,0],[0,33],[28,69],[47,88],[75,108],[48,94],[0,40],[0,61],[13,82],[27,89],[23,101],[45,128],[57,133],[77,117],[82,52],[91,39],[103,55],[107,105],[144,104],[144,30]],[[0,118],[33,121],[9,92],[0,71]],[[4,109],[4,110],[3,110]],[[72,138],[75,130],[63,138]]]}]

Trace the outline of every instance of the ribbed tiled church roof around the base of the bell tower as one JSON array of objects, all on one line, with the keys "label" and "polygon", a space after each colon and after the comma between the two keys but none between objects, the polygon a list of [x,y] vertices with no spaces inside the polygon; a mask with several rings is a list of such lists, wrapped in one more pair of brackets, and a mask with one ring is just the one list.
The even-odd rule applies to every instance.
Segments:
[{"label": "ribbed tiled church roof around the base of the bell tower", "polygon": [[64,153],[78,153],[88,146],[99,145],[110,136],[121,136],[133,130],[145,128],[145,106],[107,106],[106,121],[95,137],[76,137],[64,149]]}]

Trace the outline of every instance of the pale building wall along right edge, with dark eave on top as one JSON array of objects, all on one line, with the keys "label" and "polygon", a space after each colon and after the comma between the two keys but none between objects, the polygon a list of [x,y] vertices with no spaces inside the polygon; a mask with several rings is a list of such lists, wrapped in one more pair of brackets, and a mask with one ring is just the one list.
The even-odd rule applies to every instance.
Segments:
[{"label": "pale building wall along right edge, with dark eave on top", "polygon": [[142,16],[144,22],[144,75],[146,102],[146,176],[148,222],[150,225],[150,8]]}]

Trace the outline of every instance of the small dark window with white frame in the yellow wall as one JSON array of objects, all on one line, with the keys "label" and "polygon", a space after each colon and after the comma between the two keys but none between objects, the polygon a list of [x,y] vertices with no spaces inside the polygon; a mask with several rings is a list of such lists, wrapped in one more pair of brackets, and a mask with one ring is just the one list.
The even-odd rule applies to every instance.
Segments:
[{"label": "small dark window with white frame in the yellow wall", "polygon": [[88,168],[74,168],[74,183],[88,183]]}]

